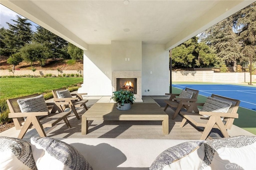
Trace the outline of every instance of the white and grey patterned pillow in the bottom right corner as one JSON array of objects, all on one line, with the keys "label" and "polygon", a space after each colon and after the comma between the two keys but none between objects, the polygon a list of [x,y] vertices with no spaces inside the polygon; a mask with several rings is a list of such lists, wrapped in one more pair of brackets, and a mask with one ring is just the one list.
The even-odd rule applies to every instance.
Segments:
[{"label": "white and grey patterned pillow in the bottom right corner", "polygon": [[200,170],[256,169],[256,136],[233,136],[205,142]]}]

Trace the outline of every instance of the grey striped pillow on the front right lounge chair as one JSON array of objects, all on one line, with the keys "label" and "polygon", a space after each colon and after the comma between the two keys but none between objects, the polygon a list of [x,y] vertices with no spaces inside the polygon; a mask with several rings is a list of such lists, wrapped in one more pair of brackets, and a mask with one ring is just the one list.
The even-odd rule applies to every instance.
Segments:
[{"label": "grey striped pillow on the front right lounge chair", "polygon": [[[219,99],[213,97],[207,97],[201,111],[204,112],[220,112],[220,113],[227,113],[228,109],[231,107],[232,103],[227,101],[221,101]],[[203,115],[204,117],[208,118],[210,116]],[[222,120],[224,117],[222,117]]]}]

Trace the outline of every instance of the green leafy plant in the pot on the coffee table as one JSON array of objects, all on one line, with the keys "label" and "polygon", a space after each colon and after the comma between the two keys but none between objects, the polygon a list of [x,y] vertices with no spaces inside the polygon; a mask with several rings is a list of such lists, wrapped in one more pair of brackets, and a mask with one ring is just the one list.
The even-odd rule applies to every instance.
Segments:
[{"label": "green leafy plant in the pot on the coffee table", "polygon": [[132,91],[120,90],[114,91],[111,99],[116,102],[116,105],[123,106],[124,103],[130,103],[132,105],[135,97]]}]

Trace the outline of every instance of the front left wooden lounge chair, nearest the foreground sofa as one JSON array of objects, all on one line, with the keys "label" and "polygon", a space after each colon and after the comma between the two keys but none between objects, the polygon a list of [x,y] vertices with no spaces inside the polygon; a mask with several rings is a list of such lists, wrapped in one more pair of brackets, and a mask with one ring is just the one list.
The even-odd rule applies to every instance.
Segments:
[{"label": "front left wooden lounge chair, nearest the foreground sofa", "polygon": [[[16,130],[20,130],[20,134],[18,138],[23,138],[29,128],[36,128],[36,131],[41,137],[45,137],[46,134],[56,127],[56,124],[60,121],[64,121],[68,127],[71,128],[70,123],[68,122],[67,116],[70,115],[70,112],[62,112],[59,105],[64,105],[67,103],[46,103],[47,106],[52,106],[52,110],[43,111],[43,112],[23,112],[21,111],[18,99],[28,99],[32,97],[38,97],[38,94],[28,95],[24,97],[17,97],[14,99],[8,99],[8,107],[10,109],[10,113],[8,115],[9,118],[12,118]],[[43,99],[44,100],[44,99]],[[47,109],[46,106],[46,109]],[[56,113],[58,111],[58,113]],[[24,119],[26,117],[26,120]],[[44,132],[43,128],[49,128],[46,132]]]}]

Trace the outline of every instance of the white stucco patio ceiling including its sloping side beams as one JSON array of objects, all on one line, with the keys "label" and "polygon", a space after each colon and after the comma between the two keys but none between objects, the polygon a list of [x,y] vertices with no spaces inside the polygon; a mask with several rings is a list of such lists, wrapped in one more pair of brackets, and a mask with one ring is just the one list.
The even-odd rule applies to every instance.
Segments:
[{"label": "white stucco patio ceiling including its sloping side beams", "polygon": [[[142,41],[166,50],[230,16],[249,0],[1,0],[1,4],[82,49]],[[130,32],[124,32],[124,29]]]}]

